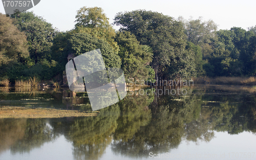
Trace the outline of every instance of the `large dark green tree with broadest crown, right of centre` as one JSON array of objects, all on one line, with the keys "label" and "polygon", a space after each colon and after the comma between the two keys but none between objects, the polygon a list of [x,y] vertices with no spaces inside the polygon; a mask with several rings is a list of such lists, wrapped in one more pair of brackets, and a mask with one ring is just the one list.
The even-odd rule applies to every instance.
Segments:
[{"label": "large dark green tree with broadest crown, right of centre", "polygon": [[156,78],[186,79],[194,74],[195,60],[193,53],[185,49],[186,36],[181,22],[145,10],[120,12],[114,20],[121,31],[130,31],[141,44],[152,47],[154,60],[151,65]]}]

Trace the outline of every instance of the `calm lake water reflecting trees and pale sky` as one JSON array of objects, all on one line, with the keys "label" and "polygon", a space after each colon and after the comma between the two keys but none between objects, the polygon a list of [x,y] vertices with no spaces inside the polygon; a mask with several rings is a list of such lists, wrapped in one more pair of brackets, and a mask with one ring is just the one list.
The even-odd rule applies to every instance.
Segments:
[{"label": "calm lake water reflecting trees and pale sky", "polygon": [[[0,119],[0,159],[256,158],[256,88],[167,93],[132,91],[94,117]],[[86,93],[67,89],[0,88],[0,106],[92,111]]]}]

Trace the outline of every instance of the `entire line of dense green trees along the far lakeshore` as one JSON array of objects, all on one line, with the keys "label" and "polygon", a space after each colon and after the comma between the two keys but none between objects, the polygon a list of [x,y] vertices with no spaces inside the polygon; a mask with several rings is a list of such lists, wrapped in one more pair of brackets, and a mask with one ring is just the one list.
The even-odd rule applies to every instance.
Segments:
[{"label": "entire line of dense green trees along the far lakeshore", "polygon": [[0,76],[11,82],[53,79],[65,70],[69,54],[98,48],[106,67],[120,67],[127,81],[256,74],[256,26],[218,30],[214,21],[201,17],[174,19],[135,10],[116,14],[120,29],[115,31],[98,7],[80,8],[75,28],[67,32],[33,12],[0,18]]}]

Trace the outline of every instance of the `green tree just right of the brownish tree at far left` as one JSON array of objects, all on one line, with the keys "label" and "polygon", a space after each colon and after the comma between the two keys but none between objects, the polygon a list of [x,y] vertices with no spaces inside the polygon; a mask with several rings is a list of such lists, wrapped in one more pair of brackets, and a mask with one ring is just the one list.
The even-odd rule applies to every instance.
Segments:
[{"label": "green tree just right of the brownish tree at far left", "polygon": [[17,28],[25,32],[29,42],[30,58],[36,64],[41,59],[50,60],[50,47],[56,29],[42,17],[33,12],[20,12],[11,15]]}]

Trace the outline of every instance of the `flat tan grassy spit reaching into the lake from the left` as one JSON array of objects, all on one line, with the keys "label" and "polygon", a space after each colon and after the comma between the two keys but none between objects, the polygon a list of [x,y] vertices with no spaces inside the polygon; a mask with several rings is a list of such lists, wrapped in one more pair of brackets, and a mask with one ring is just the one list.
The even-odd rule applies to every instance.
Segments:
[{"label": "flat tan grassy spit reaching into the lake from the left", "polygon": [[25,108],[21,106],[1,106],[0,119],[2,118],[63,118],[63,117],[88,117],[97,116],[98,111],[84,112],[72,110]]}]

